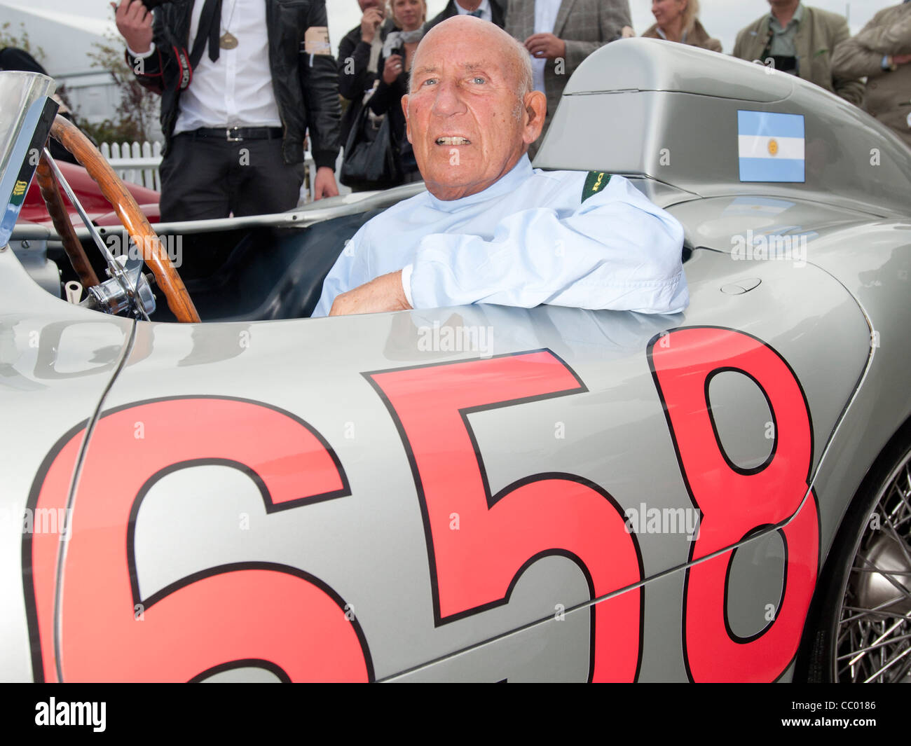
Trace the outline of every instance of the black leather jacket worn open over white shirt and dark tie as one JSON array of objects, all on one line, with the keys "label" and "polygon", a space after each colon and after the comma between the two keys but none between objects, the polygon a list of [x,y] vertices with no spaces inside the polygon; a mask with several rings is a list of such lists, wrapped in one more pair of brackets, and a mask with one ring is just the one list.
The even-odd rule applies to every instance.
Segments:
[{"label": "black leather jacket worn open over white shirt and dark tie", "polygon": [[[165,152],[177,122],[181,80],[185,77],[180,60],[183,58],[186,64],[192,47],[189,22],[193,2],[176,0],[153,11],[155,52],[141,66],[127,53],[127,62],[138,82],[161,95]],[[272,88],[284,129],[282,156],[286,163],[302,163],[303,138],[309,128],[314,162],[318,167],[334,169],[342,117],[338,69],[332,55],[305,55],[302,51],[304,32],[308,28],[328,26],[325,0],[263,2],[266,3]],[[192,78],[189,80],[191,83]]]}]

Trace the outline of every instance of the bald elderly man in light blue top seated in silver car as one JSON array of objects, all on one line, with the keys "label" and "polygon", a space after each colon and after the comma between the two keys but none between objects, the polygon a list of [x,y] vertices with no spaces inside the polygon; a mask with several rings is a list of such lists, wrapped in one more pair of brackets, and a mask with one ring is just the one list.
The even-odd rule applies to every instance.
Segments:
[{"label": "bald elderly man in light blue top seated in silver car", "polygon": [[531,168],[547,99],[524,46],[469,15],[427,33],[402,100],[427,191],[363,225],[314,316],[499,303],[646,313],[689,302],[683,230],[629,181]]}]

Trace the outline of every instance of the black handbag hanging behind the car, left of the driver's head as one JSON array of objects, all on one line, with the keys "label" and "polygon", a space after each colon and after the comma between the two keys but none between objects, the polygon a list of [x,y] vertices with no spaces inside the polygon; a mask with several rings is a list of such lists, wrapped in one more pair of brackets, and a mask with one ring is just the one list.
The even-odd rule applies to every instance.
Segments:
[{"label": "black handbag hanging behind the car, left of the driver's head", "polygon": [[370,114],[370,107],[362,102],[345,143],[339,180],[348,187],[388,189],[402,183],[402,167],[389,117],[384,116],[375,128]]}]

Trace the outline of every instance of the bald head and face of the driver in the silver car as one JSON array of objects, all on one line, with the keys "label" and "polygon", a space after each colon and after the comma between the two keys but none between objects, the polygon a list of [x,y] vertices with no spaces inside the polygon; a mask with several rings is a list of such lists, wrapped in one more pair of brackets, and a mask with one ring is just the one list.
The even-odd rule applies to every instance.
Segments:
[{"label": "bald head and face of the driver in the silver car", "polygon": [[415,54],[402,107],[418,169],[439,199],[489,187],[516,165],[544,123],[547,99],[537,91],[519,99],[516,62],[494,29],[457,16]]}]

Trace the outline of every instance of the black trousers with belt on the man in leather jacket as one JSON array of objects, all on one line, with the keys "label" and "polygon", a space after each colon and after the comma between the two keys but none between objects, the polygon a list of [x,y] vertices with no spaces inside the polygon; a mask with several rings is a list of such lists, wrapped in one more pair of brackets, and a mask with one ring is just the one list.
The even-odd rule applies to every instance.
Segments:
[{"label": "black trousers with belt on the man in leather jacket", "polygon": [[181,132],[161,161],[162,222],[262,215],[297,206],[302,163],[281,158],[281,138],[228,142]]}]

